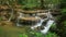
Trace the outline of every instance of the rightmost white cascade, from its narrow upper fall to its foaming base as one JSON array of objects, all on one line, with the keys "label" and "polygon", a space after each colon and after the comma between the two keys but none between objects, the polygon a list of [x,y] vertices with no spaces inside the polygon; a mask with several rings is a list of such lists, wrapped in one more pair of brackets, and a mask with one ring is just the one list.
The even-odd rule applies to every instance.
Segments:
[{"label": "rightmost white cascade, from its narrow upper fall to its foaming base", "polygon": [[54,21],[51,20],[51,18],[53,18],[53,15],[51,14],[50,11],[48,11],[48,13],[47,13],[47,18],[48,18],[48,21],[47,21],[46,25],[44,26],[44,29],[41,30],[41,33],[43,33],[43,34],[46,34],[46,33],[48,32],[50,27],[51,27],[51,26],[53,25],[53,23],[54,23]]}]

